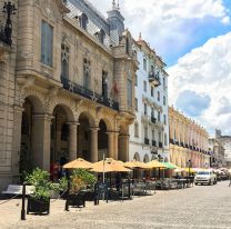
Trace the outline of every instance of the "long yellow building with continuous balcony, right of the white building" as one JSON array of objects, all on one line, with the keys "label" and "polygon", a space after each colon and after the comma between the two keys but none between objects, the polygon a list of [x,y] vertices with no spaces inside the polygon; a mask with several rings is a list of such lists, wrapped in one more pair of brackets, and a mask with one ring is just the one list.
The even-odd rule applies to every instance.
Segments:
[{"label": "long yellow building with continuous balcony, right of the white building", "polygon": [[179,167],[210,166],[209,135],[201,126],[169,107],[170,161]]}]

